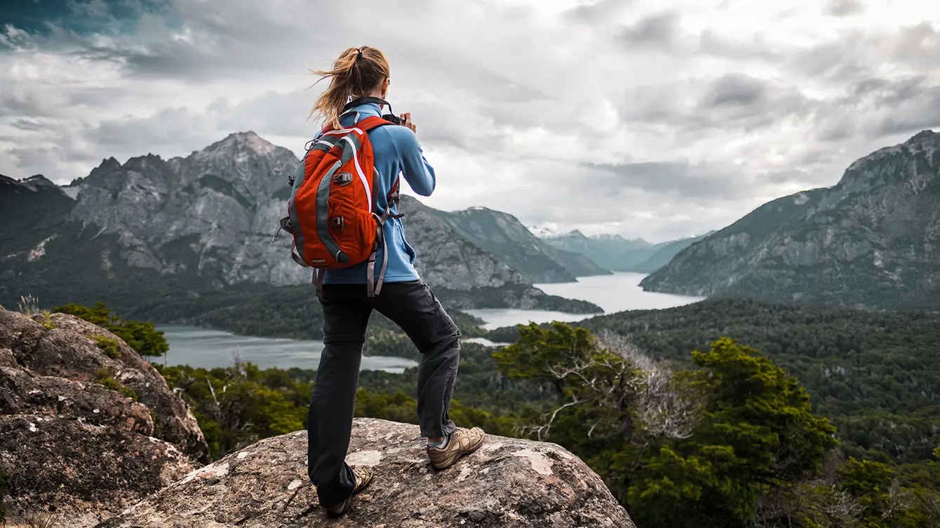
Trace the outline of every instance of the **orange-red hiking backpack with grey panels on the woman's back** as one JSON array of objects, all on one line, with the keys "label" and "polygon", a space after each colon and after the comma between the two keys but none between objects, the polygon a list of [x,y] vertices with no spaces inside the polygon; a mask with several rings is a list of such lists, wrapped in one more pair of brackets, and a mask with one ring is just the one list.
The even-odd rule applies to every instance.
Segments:
[{"label": "orange-red hiking backpack with grey panels on the woman's back", "polygon": [[[388,264],[388,252],[375,277],[376,253],[384,247],[384,224],[399,218],[388,211],[399,204],[399,181],[388,195],[388,210],[378,207],[372,143],[368,131],[393,125],[369,116],[350,128],[324,128],[312,145],[307,143],[304,161],[289,178],[288,216],[281,229],[293,234],[290,256],[294,262],[314,268],[317,295],[322,293],[323,272],[368,261],[368,296],[379,294]],[[279,230],[278,230],[279,231]],[[275,234],[276,235],[276,234]]]}]

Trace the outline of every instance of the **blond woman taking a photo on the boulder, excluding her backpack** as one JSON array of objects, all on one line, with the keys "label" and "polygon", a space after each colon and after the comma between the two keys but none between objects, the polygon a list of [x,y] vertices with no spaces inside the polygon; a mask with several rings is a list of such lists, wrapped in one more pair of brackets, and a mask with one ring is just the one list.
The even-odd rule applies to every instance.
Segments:
[{"label": "blond woman taking a photo on the boulder, excluding her backpack", "polygon": [[[315,70],[330,85],[317,99],[313,114],[321,114],[333,128],[352,127],[358,120],[382,115],[377,102],[348,105],[350,99],[381,98],[388,92],[388,61],[381,51],[363,46],[339,55],[333,69]],[[319,81],[318,81],[319,83]],[[347,108],[350,106],[349,108]],[[384,126],[368,132],[379,173],[375,192],[381,210],[398,213],[389,200],[398,174],[421,196],[430,196],[436,183],[434,169],[417,143],[417,128],[409,113],[403,126]],[[389,204],[391,202],[391,204]],[[391,208],[391,211],[388,209]],[[398,324],[421,352],[417,381],[417,414],[421,436],[428,439],[431,466],[445,469],[482,443],[478,428],[459,429],[447,417],[460,360],[461,333],[431,288],[415,271],[415,249],[405,240],[401,220],[384,225],[384,251],[388,264],[381,294],[367,294],[367,264],[327,270],[320,303],[323,310],[324,348],[307,418],[308,473],[317,487],[320,504],[331,517],[344,514],[352,496],[372,478],[367,466],[346,462],[359,362],[366,325],[373,309]],[[382,262],[383,255],[376,260]]]}]

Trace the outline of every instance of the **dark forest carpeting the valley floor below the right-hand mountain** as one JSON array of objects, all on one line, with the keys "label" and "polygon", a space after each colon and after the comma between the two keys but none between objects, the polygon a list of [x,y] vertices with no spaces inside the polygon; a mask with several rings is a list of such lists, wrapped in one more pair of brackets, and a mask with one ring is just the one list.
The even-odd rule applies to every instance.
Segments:
[{"label": "dark forest carpeting the valley floor below the right-hand mountain", "polygon": [[[813,412],[829,418],[841,448],[857,459],[930,460],[940,445],[940,314],[707,300],[578,325],[623,336],[674,368],[691,367],[689,351],[716,339],[746,343],[798,376]],[[504,328],[489,338],[518,336]]]}]

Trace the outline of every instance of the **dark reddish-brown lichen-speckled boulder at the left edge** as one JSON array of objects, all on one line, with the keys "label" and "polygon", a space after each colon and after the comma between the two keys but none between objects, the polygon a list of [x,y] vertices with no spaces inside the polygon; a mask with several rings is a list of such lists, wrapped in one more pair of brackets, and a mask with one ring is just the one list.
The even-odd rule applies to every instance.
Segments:
[{"label": "dark reddish-brown lichen-speckled boulder at the left edge", "polygon": [[0,308],[8,518],[90,526],[209,461],[196,418],[121,339],[71,315]]}]

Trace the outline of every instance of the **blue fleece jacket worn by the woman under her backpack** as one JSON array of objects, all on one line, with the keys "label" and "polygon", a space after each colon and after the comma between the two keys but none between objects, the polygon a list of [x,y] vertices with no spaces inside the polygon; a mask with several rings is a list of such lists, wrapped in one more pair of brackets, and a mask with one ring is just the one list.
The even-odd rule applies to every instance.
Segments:
[{"label": "blue fleece jacket worn by the woman under her backpack", "polygon": [[[350,113],[339,119],[343,127],[351,127],[358,120],[369,115],[382,116],[382,108],[376,103],[366,103],[351,109]],[[415,132],[410,128],[386,125],[368,132],[375,168],[379,172],[378,192],[379,208],[388,207],[388,191],[392,189],[399,173],[404,180],[421,196],[431,196],[436,178],[434,169],[424,158],[421,145],[417,143]],[[393,207],[393,213],[398,208]],[[408,211],[402,211],[407,217]],[[375,275],[378,278],[382,266],[383,251],[388,251],[388,267],[385,270],[385,282],[404,282],[419,279],[415,270],[415,249],[405,240],[401,219],[385,222],[385,249],[379,249],[375,259]],[[356,264],[343,269],[330,269],[323,276],[324,284],[365,284],[367,282],[368,263]]]}]

